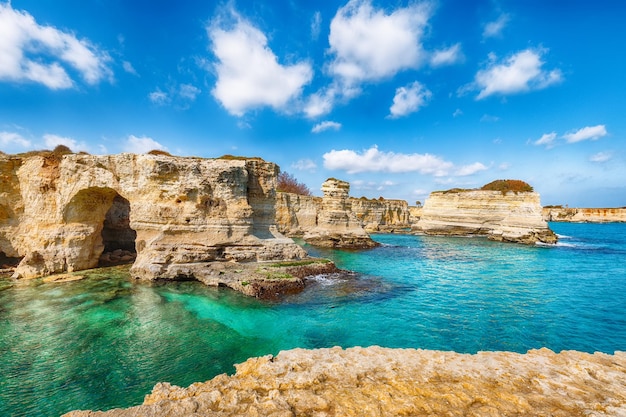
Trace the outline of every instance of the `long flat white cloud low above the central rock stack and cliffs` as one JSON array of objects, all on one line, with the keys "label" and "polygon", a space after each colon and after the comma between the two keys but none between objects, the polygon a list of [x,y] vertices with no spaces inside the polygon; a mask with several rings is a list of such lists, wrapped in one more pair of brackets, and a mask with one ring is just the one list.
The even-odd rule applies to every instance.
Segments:
[{"label": "long flat white cloud low above the central rock stack and cliffs", "polygon": [[430,154],[381,152],[377,146],[359,153],[353,150],[332,150],[323,156],[324,167],[354,174],[358,172],[419,172],[435,176],[447,175],[451,162]]}]

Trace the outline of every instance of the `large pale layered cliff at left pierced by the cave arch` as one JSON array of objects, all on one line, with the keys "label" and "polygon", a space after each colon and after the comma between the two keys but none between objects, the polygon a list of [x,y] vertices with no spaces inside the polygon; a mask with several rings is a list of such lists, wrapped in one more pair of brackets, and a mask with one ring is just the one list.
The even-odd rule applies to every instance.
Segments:
[{"label": "large pale layered cliff at left pierced by the cave arch", "polygon": [[144,279],[307,256],[274,225],[278,167],[262,160],[2,155],[0,173],[0,251],[19,261],[15,277],[93,268],[105,249],[136,250],[131,274]]}]

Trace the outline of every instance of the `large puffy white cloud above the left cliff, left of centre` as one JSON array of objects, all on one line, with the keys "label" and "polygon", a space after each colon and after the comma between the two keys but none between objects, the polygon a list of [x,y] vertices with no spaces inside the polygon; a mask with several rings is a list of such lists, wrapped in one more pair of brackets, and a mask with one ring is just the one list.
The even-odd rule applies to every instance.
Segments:
[{"label": "large puffy white cloud above the left cliff, left of centre", "polygon": [[259,29],[234,10],[230,10],[230,17],[234,23],[228,28],[223,19],[207,28],[211,50],[217,58],[213,96],[235,116],[264,106],[288,110],[288,104],[301,95],[302,88],[313,78],[311,65],[280,65]]}]

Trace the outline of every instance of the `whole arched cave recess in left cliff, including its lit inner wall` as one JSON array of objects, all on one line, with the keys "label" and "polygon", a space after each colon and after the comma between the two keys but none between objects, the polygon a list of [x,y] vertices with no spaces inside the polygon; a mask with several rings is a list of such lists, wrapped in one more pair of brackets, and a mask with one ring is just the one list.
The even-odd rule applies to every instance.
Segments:
[{"label": "whole arched cave recess in left cliff, including its lit inner wall", "polygon": [[132,262],[136,233],[129,219],[130,203],[112,188],[90,187],[76,193],[65,206],[63,220],[85,235],[77,269]]}]

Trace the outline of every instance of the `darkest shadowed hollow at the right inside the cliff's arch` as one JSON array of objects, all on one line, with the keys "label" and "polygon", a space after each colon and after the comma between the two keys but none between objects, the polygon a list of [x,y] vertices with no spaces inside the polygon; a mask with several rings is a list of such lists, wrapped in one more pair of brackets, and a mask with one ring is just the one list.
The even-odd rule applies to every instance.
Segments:
[{"label": "darkest shadowed hollow at the right inside the cliff's arch", "polygon": [[137,232],[130,227],[130,202],[116,194],[104,216],[102,244],[104,250],[98,266],[133,263],[137,257]]}]

